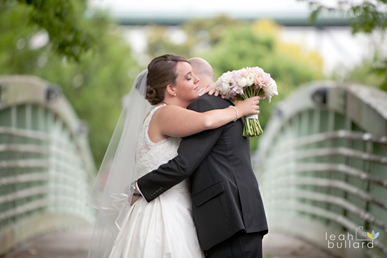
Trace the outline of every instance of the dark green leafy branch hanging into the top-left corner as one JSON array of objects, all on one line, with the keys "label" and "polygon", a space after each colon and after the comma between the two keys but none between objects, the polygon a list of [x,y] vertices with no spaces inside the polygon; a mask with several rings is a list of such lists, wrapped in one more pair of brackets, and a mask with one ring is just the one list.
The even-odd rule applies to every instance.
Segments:
[{"label": "dark green leafy branch hanging into the top-left corner", "polygon": [[[80,60],[94,44],[94,38],[80,25],[85,0],[0,0],[0,9],[22,7],[29,25],[37,25],[49,35],[51,48],[59,56]],[[25,17],[23,21],[25,22]]]}]

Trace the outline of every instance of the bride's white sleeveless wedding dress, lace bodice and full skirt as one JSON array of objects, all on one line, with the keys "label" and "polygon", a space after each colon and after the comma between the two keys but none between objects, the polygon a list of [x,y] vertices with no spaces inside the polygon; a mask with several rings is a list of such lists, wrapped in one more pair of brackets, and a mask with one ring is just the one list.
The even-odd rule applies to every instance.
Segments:
[{"label": "bride's white sleeveless wedding dress, lace bodice and full skirt", "polygon": [[[157,169],[177,155],[181,138],[166,138],[153,143],[148,127],[158,105],[144,120],[137,143],[136,162],[139,177]],[[141,190],[141,189],[140,189]],[[158,198],[146,202],[139,198],[125,214],[121,236],[110,258],[202,258],[192,217],[188,179],[170,188]]]}]

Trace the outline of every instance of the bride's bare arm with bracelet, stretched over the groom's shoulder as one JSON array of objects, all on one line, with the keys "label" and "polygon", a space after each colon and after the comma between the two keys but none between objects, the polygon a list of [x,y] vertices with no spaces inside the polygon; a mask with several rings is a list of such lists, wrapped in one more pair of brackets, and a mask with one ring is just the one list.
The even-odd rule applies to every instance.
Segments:
[{"label": "bride's bare arm with bracelet, stretched over the groom's shoulder", "polygon": [[184,137],[196,134],[207,129],[222,127],[236,118],[246,115],[258,114],[258,103],[260,97],[247,98],[238,101],[235,108],[238,110],[238,117],[235,108],[224,108],[210,110],[207,112],[195,112],[176,105],[167,105],[160,108],[158,114],[153,115],[153,122],[161,134],[172,137]]}]

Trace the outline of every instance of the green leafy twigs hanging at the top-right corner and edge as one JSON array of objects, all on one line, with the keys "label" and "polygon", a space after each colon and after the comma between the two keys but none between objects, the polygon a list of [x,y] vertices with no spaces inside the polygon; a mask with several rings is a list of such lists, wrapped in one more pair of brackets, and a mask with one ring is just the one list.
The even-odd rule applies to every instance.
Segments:
[{"label": "green leafy twigs hanging at the top-right corner and edge", "polygon": [[[387,1],[386,0],[374,0],[374,1],[348,1],[338,0],[336,5],[328,6],[323,1],[315,0],[298,0],[305,1],[309,4],[312,13],[310,18],[312,22],[315,22],[318,16],[328,11],[331,13],[343,13],[350,18],[350,25],[352,27],[353,34],[372,32],[385,32],[387,27]],[[383,43],[381,43],[383,44]],[[387,58],[381,56],[381,53],[374,54],[374,60],[372,62],[372,72],[376,77],[383,78],[379,84],[380,88],[387,91]]]}]

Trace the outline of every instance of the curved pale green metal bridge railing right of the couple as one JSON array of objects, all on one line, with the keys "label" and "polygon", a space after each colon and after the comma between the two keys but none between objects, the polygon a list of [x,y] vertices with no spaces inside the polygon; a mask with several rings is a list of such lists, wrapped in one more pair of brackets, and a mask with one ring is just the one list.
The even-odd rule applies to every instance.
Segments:
[{"label": "curved pale green metal bridge railing right of the couple", "polygon": [[255,157],[271,230],[338,257],[387,256],[385,92],[303,86],[277,105]]}]

